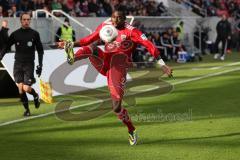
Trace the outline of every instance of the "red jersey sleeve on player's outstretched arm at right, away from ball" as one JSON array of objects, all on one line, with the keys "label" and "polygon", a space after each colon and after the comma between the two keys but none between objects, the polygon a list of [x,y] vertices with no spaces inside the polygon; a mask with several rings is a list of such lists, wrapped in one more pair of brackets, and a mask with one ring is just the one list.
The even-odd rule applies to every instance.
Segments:
[{"label": "red jersey sleeve on player's outstretched arm at right, away from ball", "polygon": [[146,49],[150,52],[150,54],[152,56],[154,56],[156,59],[159,57],[159,55],[160,55],[159,50],[156,48],[156,46],[151,41],[149,41],[147,39],[145,34],[143,34],[138,29],[132,30],[131,39],[134,43],[141,44],[144,47],[146,47]]}]

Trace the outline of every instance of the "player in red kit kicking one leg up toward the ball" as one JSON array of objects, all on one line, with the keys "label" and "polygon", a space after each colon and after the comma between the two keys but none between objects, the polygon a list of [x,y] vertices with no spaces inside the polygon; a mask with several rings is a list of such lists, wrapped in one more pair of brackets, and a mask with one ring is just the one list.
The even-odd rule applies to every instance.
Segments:
[{"label": "player in red kit kicking one leg up toward the ball", "polygon": [[[130,145],[137,143],[137,133],[128,111],[122,106],[124,84],[126,82],[127,69],[131,66],[131,54],[136,44],[141,44],[158,60],[162,70],[168,76],[172,76],[172,70],[165,65],[160,58],[158,49],[138,29],[125,22],[126,16],[123,11],[113,12],[111,21],[100,24],[96,31],[77,42],[59,42],[60,48],[65,48],[68,54],[68,62],[89,58],[92,65],[107,77],[108,88],[112,99],[112,108],[118,118],[127,126]],[[99,32],[105,25],[113,25],[118,30],[118,36],[111,43],[105,43],[104,49],[97,47],[95,43],[100,39]],[[73,46],[81,48],[74,55],[71,52]]]}]

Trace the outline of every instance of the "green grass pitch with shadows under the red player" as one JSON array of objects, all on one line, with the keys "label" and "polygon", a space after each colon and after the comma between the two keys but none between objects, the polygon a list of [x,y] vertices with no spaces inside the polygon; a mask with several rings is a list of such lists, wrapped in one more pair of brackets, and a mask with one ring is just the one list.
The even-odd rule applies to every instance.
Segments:
[{"label": "green grass pitch with shadows under the red player", "polygon": [[[239,53],[232,53],[225,61],[213,60],[208,55],[202,62],[170,63],[174,78],[162,78],[172,87],[170,90],[153,96],[149,96],[151,91],[146,96],[136,94],[134,107],[127,101],[124,103],[138,130],[136,146],[129,146],[126,127],[111,111],[88,121],[64,121],[50,114],[0,126],[0,159],[237,160],[240,157],[239,60]],[[145,71],[141,69],[132,75]],[[132,90],[154,88],[146,78],[149,77],[145,76],[141,86],[133,85]],[[94,93],[60,96],[56,102],[72,99],[73,106],[93,102],[94,99],[86,98],[88,94]],[[105,96],[108,97],[107,92]],[[42,104],[36,110],[31,104],[32,114],[53,112],[55,105]],[[72,113],[86,109],[79,107]],[[17,99],[0,100],[0,124],[21,119],[22,112]]]}]

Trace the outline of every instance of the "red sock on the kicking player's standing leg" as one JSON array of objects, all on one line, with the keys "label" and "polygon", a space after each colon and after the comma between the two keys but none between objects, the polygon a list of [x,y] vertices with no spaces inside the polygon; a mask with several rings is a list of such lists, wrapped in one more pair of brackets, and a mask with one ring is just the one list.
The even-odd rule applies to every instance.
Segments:
[{"label": "red sock on the kicking player's standing leg", "polygon": [[119,113],[117,113],[118,118],[128,127],[128,132],[135,130],[132,121],[128,115],[127,109],[122,108]]}]

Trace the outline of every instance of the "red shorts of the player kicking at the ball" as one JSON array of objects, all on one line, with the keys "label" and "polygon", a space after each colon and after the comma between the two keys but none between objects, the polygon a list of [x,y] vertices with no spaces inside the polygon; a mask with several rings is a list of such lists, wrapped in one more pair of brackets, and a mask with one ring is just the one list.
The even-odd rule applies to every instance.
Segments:
[{"label": "red shorts of the player kicking at the ball", "polygon": [[98,48],[92,53],[89,48],[83,47],[92,65],[104,76],[107,76],[108,88],[113,100],[122,100],[126,83],[127,69],[129,68],[128,57],[125,54],[105,53]]}]

